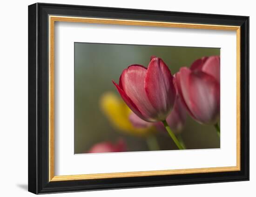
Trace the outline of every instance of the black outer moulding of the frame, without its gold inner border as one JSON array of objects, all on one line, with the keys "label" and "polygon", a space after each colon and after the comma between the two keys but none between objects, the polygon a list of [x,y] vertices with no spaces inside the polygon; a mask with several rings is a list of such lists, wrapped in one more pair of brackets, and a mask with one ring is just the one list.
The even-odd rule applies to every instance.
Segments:
[{"label": "black outer moulding of the frame, without its gold inner border", "polygon": [[[49,182],[48,15],[241,27],[241,170]],[[28,6],[28,191],[35,194],[249,180],[249,17],[35,3]]]}]

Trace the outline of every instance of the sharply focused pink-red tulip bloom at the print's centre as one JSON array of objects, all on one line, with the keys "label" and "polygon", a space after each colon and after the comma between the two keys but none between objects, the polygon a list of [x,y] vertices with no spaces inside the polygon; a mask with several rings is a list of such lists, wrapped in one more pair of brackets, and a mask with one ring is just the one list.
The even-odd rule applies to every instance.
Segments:
[{"label": "sharply focused pink-red tulip bloom at the print's centre", "polygon": [[129,66],[123,70],[119,85],[113,83],[128,107],[144,121],[163,121],[174,106],[173,76],[161,58],[151,57],[148,68]]}]

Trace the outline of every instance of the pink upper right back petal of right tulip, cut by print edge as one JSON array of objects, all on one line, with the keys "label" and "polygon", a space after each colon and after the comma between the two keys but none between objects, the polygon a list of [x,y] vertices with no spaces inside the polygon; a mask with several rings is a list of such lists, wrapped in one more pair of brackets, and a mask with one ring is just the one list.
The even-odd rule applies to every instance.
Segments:
[{"label": "pink upper right back petal of right tulip, cut by print edge", "polygon": [[220,56],[211,56],[203,64],[202,71],[214,76],[220,83]]}]

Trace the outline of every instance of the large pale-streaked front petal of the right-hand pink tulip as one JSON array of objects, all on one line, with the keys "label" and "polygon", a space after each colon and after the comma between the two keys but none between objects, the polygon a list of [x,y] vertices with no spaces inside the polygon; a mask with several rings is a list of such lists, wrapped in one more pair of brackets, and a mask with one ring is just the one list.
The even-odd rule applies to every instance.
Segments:
[{"label": "large pale-streaked front petal of the right-hand pink tulip", "polygon": [[219,83],[204,72],[192,72],[189,83],[189,108],[196,120],[206,124],[216,123],[220,113]]}]

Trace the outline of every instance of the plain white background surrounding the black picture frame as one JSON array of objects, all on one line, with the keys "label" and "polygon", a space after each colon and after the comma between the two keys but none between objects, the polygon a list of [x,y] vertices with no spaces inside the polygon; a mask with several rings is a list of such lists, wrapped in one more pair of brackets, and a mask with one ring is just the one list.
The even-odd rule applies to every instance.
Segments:
[{"label": "plain white background surrounding the black picture frame", "polygon": [[[27,5],[32,0],[1,3],[0,31],[0,195],[33,196],[27,192]],[[256,13],[251,0],[120,1],[120,0],[45,0],[51,3],[113,6],[195,13],[217,13],[250,16],[250,101],[256,101]],[[54,194],[51,196],[255,196],[256,185],[256,104],[250,103],[250,181],[196,184],[169,187],[92,191]]]}]

